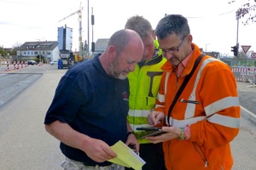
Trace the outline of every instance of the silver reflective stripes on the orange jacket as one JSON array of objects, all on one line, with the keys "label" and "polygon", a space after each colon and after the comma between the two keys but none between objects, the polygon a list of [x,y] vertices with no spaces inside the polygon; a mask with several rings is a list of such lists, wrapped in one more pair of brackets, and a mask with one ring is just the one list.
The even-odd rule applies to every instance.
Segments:
[{"label": "silver reflective stripes on the orange jacket", "polygon": [[[189,100],[195,101],[195,90],[196,90],[198,82],[201,78],[201,72],[203,71],[203,69],[206,67],[206,65],[208,65],[212,61],[216,61],[216,60],[218,60],[218,59],[208,58],[208,59],[204,59],[202,61],[200,70],[198,71],[196,78],[195,78],[193,90],[192,90],[191,94],[189,95]],[[170,74],[166,74],[166,76],[169,77]],[[166,81],[168,81],[168,77],[166,78]],[[166,95],[166,88],[167,88],[167,82],[165,82],[165,95]],[[165,97],[163,97],[160,94],[158,95],[158,99],[160,102],[165,102]],[[159,106],[159,105],[156,105],[156,107],[157,106]],[[223,115],[219,115],[217,113],[218,111],[222,111],[225,108],[229,108],[231,106],[240,106],[238,97],[227,97],[224,99],[219,99],[218,101],[215,101],[211,105],[207,105],[204,108],[204,110],[206,112],[206,116],[194,117],[195,116],[195,104],[188,103],[186,106],[184,120],[179,121],[176,119],[172,119],[172,117],[170,117],[170,123],[172,124],[172,126],[175,126],[175,127],[185,127],[189,124],[201,121],[208,117],[207,118],[208,122],[212,122],[212,123],[216,123],[216,124],[219,124],[222,126],[228,126],[228,127],[239,127],[240,126],[239,118],[223,116]],[[166,120],[167,120],[167,117],[166,117]]]}]

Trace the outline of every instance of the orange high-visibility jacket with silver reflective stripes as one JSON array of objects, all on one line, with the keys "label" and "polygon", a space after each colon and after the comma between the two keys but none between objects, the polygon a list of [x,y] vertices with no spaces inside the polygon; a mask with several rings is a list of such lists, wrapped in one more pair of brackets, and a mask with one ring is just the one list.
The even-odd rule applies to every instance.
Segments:
[{"label": "orange high-visibility jacket with silver reflective stripes", "polygon": [[[194,52],[181,77],[177,77],[167,61],[156,99],[155,111],[166,114],[178,88],[192,70],[201,54],[192,43]],[[182,102],[196,101],[196,104]],[[177,99],[170,116],[173,127],[190,125],[190,139],[172,139],[164,142],[166,168],[169,170],[231,169],[233,160],[230,141],[240,127],[240,105],[236,92],[236,79],[229,65],[204,56]]]}]

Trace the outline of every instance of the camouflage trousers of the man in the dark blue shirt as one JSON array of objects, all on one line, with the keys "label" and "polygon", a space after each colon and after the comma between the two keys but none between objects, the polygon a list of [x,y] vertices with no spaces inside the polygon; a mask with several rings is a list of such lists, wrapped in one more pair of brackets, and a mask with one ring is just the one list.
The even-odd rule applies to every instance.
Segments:
[{"label": "camouflage trousers of the man in the dark blue shirt", "polygon": [[64,170],[125,170],[125,167],[122,167],[117,164],[112,164],[106,167],[96,166],[86,166],[81,161],[74,161],[66,157],[64,161],[61,162],[61,167]]}]

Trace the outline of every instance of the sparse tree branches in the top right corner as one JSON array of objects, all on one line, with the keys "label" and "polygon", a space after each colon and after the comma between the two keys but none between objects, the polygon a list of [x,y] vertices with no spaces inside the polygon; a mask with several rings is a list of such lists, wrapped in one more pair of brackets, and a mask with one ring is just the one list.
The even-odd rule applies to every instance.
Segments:
[{"label": "sparse tree branches in the top right corner", "polygon": [[[256,0],[247,0],[248,3],[244,3],[240,8],[236,10],[236,19],[246,18],[246,21],[242,21],[242,24],[248,25],[249,22],[256,22]],[[229,2],[236,3],[236,0]]]}]

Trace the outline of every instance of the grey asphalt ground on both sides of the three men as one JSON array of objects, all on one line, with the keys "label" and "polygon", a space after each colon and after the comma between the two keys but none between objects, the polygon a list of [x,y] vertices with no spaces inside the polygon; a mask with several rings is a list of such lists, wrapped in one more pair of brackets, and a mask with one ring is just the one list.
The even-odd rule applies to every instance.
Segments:
[{"label": "grey asphalt ground on both sides of the three men", "polygon": [[[61,169],[59,163],[64,156],[59,149],[59,141],[45,132],[44,116],[57,83],[66,71],[58,70],[56,65],[30,65],[20,71],[9,71],[6,76],[7,71],[0,66],[1,170]],[[8,80],[7,77],[13,78]],[[23,77],[26,81],[21,83],[23,81],[21,79],[14,82],[15,77]],[[9,95],[15,97],[3,101],[1,93],[8,89],[10,85],[6,84],[8,81],[13,81],[11,86],[16,89],[10,89]],[[21,86],[22,90],[20,90]],[[241,115],[247,115],[246,111],[241,112]],[[233,170],[255,169],[255,142],[256,124],[242,116],[240,133],[231,142],[235,162]]]}]

